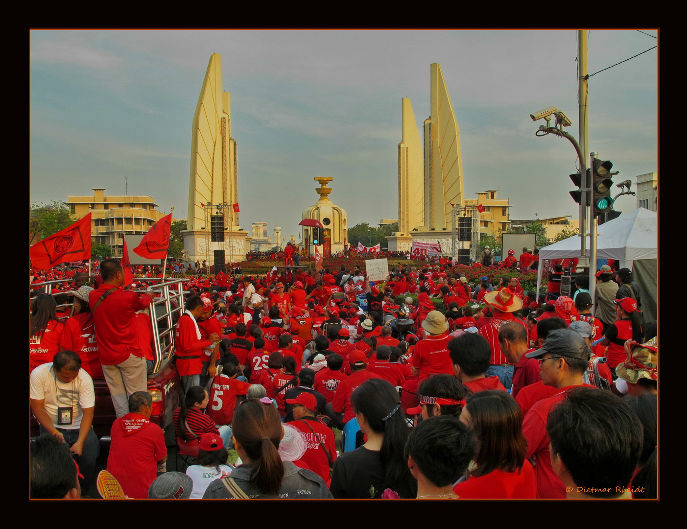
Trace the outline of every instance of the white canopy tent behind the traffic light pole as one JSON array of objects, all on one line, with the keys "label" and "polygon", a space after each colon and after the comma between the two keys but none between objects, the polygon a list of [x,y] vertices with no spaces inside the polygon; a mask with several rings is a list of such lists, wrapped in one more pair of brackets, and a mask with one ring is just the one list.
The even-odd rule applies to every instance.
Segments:
[{"label": "white canopy tent behind the traffic light pole", "polygon": [[[635,272],[635,281],[642,288],[642,310],[655,315],[657,291],[656,259],[658,256],[658,216],[640,207],[600,225],[596,232],[596,258],[620,261],[620,268]],[[572,236],[539,249],[539,260],[579,258],[581,240]],[[587,237],[589,251],[589,237]],[[635,261],[638,261],[635,263]],[[594,263],[592,263],[594,266]],[[541,285],[541,271],[537,273],[537,292]],[[646,295],[645,295],[646,293]],[[654,300],[653,308],[650,300]]]}]

